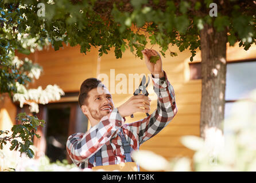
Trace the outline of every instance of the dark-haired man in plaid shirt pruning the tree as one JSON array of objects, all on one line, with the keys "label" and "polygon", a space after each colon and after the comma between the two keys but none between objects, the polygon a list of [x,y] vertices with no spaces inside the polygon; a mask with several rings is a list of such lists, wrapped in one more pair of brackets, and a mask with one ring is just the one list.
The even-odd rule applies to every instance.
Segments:
[{"label": "dark-haired man in plaid shirt pruning the tree", "polygon": [[[86,79],[80,87],[79,104],[91,123],[91,129],[86,133],[72,134],[67,141],[67,152],[79,168],[132,161],[130,149],[137,150],[139,145],[168,125],[177,113],[174,90],[162,70],[160,55],[149,49],[143,50],[142,54],[152,74],[158,97],[157,109],[142,120],[125,124],[125,117],[133,113],[149,113],[149,97],[133,96],[115,108],[107,88],[96,78]],[[151,63],[152,55],[159,55],[160,59]]]}]

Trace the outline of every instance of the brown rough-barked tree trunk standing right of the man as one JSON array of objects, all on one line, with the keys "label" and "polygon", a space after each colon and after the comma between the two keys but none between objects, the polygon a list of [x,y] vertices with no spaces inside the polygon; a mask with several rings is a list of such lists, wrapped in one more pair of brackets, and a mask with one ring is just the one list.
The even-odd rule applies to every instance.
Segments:
[{"label": "brown rough-barked tree trunk standing right of the man", "polygon": [[205,138],[206,129],[222,130],[220,125],[224,120],[227,31],[217,32],[214,27],[204,25],[204,29],[200,31],[200,41],[202,69],[200,136]]}]

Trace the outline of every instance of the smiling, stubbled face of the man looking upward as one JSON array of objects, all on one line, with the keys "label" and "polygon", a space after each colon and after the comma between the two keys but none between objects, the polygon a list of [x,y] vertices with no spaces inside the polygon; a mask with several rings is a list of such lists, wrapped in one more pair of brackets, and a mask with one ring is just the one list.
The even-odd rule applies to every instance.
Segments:
[{"label": "smiling, stubbled face of the man looking upward", "polygon": [[112,96],[106,87],[90,90],[88,92],[87,105],[85,106],[87,110],[84,114],[87,114],[89,118],[94,118],[96,121],[99,121],[114,109]]}]

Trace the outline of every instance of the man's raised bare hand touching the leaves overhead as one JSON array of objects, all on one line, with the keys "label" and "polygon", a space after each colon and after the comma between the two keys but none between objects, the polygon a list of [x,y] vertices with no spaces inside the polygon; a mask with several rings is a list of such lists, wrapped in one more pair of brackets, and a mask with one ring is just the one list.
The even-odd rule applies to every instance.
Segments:
[{"label": "man's raised bare hand touching the leaves overhead", "polygon": [[[145,63],[150,73],[152,73],[154,77],[164,77],[164,71],[162,70],[162,59],[160,54],[158,54],[156,50],[149,49],[142,50],[141,52],[145,58]],[[159,56],[160,59],[158,59],[156,63],[150,62],[150,57],[157,55]]]}]

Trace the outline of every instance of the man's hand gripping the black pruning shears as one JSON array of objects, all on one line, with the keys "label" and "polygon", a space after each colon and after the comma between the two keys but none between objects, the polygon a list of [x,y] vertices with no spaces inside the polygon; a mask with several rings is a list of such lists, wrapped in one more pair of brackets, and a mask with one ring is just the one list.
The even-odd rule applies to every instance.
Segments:
[{"label": "man's hand gripping the black pruning shears", "polygon": [[150,101],[150,98],[147,96],[133,96],[118,107],[118,112],[122,117],[131,116],[131,114],[136,112],[149,113]]}]

